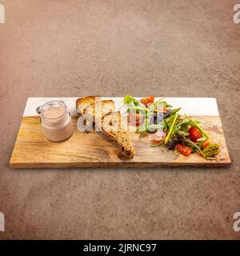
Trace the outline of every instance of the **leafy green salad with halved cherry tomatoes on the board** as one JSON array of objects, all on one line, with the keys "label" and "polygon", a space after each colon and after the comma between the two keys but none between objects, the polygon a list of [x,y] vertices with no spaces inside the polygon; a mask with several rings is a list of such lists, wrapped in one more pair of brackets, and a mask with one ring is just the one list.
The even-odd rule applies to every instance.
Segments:
[{"label": "leafy green salad with halved cherry tomatoes on the board", "polygon": [[150,134],[151,146],[166,146],[188,156],[201,154],[203,158],[214,159],[220,153],[218,144],[188,115],[180,115],[181,108],[173,109],[164,98],[154,101],[154,96],[138,100],[126,94],[123,98],[129,122],[136,126],[140,137]]}]

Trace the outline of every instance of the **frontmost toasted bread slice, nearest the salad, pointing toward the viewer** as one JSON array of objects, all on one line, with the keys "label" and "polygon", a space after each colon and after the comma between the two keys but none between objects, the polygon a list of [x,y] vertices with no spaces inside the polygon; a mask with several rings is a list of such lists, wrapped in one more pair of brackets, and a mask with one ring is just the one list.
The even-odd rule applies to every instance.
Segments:
[{"label": "frontmost toasted bread slice, nearest the salad, pointing toward the viewer", "polygon": [[121,155],[133,158],[135,154],[129,134],[122,127],[122,115],[118,112],[108,113],[102,118],[102,130],[98,132],[121,150]]}]

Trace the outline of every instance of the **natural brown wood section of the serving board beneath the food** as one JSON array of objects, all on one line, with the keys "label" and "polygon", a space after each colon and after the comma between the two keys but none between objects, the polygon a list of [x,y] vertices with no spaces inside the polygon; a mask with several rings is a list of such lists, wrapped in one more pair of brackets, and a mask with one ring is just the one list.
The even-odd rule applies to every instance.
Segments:
[{"label": "natural brown wood section of the serving board beneath the food", "polygon": [[[47,101],[52,100],[52,98]],[[130,160],[118,158],[118,149],[107,142],[96,132],[89,134],[78,131],[77,118],[73,117],[74,134],[65,142],[49,142],[42,134],[38,116],[34,114],[34,104],[39,100],[28,102],[25,116],[18,131],[14,150],[10,158],[13,168],[71,168],[71,167],[141,167],[141,166],[224,166],[230,164],[226,148],[226,140],[222,131],[218,111],[214,115],[198,115],[194,119],[201,122],[214,141],[221,147],[217,160],[206,160],[198,154],[184,157],[172,154],[165,147],[151,147],[147,137],[139,138],[139,134],[130,132],[136,155]],[[45,101],[46,102],[46,101]],[[70,111],[74,111],[75,98],[70,101]],[[116,100],[116,102],[118,102]],[[198,100],[197,100],[197,103]],[[41,105],[41,104],[40,104]],[[206,104],[207,105],[207,104]],[[34,110],[31,110],[31,109]],[[202,110],[201,110],[202,111]],[[210,110],[211,112],[212,110]],[[29,115],[30,114],[30,115]],[[191,113],[192,114],[192,113]],[[211,113],[212,114],[212,113]]]}]

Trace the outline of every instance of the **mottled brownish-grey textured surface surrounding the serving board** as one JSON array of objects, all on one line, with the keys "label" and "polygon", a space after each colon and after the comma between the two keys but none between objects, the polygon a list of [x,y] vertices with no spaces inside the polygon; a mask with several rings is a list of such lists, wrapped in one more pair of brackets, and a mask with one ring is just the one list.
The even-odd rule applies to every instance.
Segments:
[{"label": "mottled brownish-grey textured surface surrounding the serving board", "polygon": [[[240,238],[234,1],[2,0],[0,238]],[[11,170],[27,97],[216,97],[230,168]]]}]

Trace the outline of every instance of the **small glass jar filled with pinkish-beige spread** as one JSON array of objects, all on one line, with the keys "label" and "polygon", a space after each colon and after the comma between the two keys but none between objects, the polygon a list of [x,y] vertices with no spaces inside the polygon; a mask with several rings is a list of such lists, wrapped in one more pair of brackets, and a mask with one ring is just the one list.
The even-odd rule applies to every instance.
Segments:
[{"label": "small glass jar filled with pinkish-beige spread", "polygon": [[66,104],[62,101],[46,102],[37,108],[42,131],[51,142],[62,142],[71,137],[74,127]]}]

